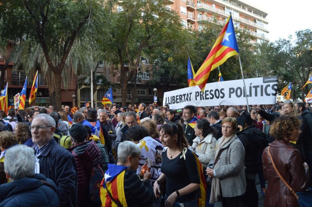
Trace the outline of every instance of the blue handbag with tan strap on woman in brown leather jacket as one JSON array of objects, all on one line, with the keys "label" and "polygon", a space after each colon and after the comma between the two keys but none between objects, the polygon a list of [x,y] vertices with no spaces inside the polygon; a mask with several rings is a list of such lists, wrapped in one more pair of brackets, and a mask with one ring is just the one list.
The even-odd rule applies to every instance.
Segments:
[{"label": "blue handbag with tan strap on woman in brown leather jacket", "polygon": [[[305,190],[304,192],[298,192],[296,193],[291,187],[290,185],[288,185],[288,183],[284,180],[284,178],[280,175],[280,172],[277,170],[274,161],[272,159],[271,156],[271,152],[270,152],[270,146],[268,148],[268,153],[272,162],[272,165],[274,167],[275,172],[277,173],[277,175],[280,177],[280,179],[283,181],[283,183],[287,186],[287,188],[290,190],[290,192],[296,197],[296,199],[298,200],[298,203],[300,205],[300,207],[308,207],[311,206],[311,202],[312,202],[312,189],[308,188],[307,190]],[[300,195],[300,197],[299,197]]]}]

